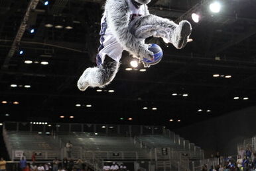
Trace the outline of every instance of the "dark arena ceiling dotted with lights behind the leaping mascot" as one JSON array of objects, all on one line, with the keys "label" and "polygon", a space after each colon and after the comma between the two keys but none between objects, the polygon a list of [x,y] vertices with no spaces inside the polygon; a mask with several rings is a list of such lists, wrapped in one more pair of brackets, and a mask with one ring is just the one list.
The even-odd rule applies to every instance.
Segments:
[{"label": "dark arena ceiling dotted with lights behind the leaping mascot", "polygon": [[[0,0],[1,120],[173,128],[255,105],[256,2],[227,0],[218,14],[210,13],[208,2],[152,0],[151,13],[190,20],[194,41],[176,50],[149,38],[148,42],[159,44],[164,51],[158,65],[144,72],[139,71],[141,65],[126,71],[131,57],[123,53],[113,83],[101,92],[99,88],[80,92],[76,81],[84,69],[95,65],[104,1],[50,0],[47,6],[39,1],[16,44],[30,1]],[[198,11],[200,22],[194,23],[190,15]],[[72,18],[74,28],[46,28],[52,16]]]}]

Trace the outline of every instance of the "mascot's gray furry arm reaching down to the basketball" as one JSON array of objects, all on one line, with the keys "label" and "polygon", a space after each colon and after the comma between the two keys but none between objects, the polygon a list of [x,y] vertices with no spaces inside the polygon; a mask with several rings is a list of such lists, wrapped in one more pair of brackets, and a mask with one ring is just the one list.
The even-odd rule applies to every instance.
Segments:
[{"label": "mascot's gray furry arm reaching down to the basketball", "polygon": [[111,32],[124,50],[129,51],[133,57],[149,58],[153,53],[147,50],[147,45],[135,38],[129,32],[129,6],[125,0],[107,0],[105,4],[107,24]]}]

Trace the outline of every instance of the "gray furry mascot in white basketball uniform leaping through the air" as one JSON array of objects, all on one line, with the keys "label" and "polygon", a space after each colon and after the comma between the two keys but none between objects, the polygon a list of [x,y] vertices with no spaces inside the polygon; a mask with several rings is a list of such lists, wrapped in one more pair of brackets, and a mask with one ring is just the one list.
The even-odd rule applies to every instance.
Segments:
[{"label": "gray furry mascot in white basketball uniform leaping through the air", "polygon": [[[164,38],[177,49],[188,42],[191,25],[182,20],[175,24],[166,18],[150,15],[147,4],[151,0],[107,0],[101,18],[99,53],[96,57],[97,67],[84,71],[78,80],[82,91],[88,86],[103,87],[115,77],[123,50],[133,57],[152,59],[153,52],[148,50],[145,39],[154,36]],[[145,67],[149,67],[143,63]]]}]

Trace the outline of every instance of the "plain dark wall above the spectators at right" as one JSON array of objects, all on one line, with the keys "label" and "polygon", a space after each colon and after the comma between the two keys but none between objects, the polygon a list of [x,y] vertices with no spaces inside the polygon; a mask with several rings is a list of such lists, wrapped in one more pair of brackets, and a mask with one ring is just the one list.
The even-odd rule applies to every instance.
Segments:
[{"label": "plain dark wall above the spectators at right", "polygon": [[221,155],[234,155],[237,143],[256,135],[256,106],[173,131],[204,149],[206,157],[216,151]]}]

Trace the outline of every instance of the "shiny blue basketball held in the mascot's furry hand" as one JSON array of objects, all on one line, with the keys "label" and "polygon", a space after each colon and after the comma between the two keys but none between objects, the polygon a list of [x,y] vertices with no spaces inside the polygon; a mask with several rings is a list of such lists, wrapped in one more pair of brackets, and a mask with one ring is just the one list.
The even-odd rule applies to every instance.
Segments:
[{"label": "shiny blue basketball held in the mascot's furry hand", "polygon": [[143,59],[145,63],[148,63],[149,65],[156,65],[159,63],[162,59],[162,49],[157,44],[149,44],[149,50],[154,53],[154,57],[152,60],[150,59]]}]

